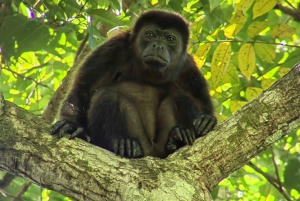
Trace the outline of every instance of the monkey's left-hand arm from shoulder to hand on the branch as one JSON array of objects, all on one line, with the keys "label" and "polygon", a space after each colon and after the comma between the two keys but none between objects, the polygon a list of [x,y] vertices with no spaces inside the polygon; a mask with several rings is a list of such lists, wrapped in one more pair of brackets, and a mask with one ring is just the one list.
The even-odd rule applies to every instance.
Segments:
[{"label": "monkey's left-hand arm from shoulder to hand on the branch", "polygon": [[72,88],[62,103],[60,120],[55,123],[53,134],[62,137],[65,133],[70,133],[73,138],[84,132],[91,98],[97,88],[111,83],[120,70],[118,64],[121,62],[122,45],[125,42],[125,37],[116,36],[99,46],[82,62]]}]

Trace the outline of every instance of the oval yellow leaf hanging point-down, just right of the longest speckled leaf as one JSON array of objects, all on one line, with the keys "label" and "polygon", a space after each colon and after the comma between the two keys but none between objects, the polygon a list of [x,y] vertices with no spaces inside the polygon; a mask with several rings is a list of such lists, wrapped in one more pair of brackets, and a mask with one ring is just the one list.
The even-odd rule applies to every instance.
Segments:
[{"label": "oval yellow leaf hanging point-down, just right of the longest speckled leaf", "polygon": [[251,44],[243,44],[238,53],[238,63],[241,72],[250,80],[255,69],[255,52]]}]

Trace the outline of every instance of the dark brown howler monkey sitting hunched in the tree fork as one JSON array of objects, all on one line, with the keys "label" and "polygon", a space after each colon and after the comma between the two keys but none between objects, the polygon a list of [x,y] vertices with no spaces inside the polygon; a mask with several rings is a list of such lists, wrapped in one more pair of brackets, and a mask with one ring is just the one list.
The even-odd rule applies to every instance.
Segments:
[{"label": "dark brown howler monkey sitting hunched in the tree fork", "polygon": [[121,157],[168,154],[216,124],[207,83],[187,53],[177,14],[151,10],[96,48],[79,68],[53,134],[81,137]]}]

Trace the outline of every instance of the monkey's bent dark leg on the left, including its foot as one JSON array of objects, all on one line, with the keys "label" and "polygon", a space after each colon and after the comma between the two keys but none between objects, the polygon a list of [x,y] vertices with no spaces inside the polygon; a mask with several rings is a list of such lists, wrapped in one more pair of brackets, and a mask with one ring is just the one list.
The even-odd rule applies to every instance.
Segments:
[{"label": "monkey's bent dark leg on the left, including its foot", "polygon": [[139,141],[128,133],[127,116],[120,108],[120,98],[117,92],[110,89],[104,89],[94,95],[88,111],[91,143],[121,157],[142,157]]}]

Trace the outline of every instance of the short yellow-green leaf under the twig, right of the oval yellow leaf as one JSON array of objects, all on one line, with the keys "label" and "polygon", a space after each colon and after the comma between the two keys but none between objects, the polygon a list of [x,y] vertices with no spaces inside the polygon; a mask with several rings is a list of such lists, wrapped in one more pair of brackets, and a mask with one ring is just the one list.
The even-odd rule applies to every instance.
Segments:
[{"label": "short yellow-green leaf under the twig, right of the oval yellow leaf", "polygon": [[262,60],[267,63],[274,63],[275,61],[275,45],[272,44],[265,44],[265,43],[255,43],[254,50],[256,55]]}]

